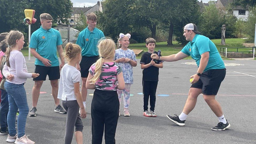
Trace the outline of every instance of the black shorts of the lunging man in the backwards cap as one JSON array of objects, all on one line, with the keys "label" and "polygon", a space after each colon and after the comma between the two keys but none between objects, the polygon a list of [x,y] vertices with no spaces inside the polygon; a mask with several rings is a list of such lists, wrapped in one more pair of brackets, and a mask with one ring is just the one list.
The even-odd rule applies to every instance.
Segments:
[{"label": "black shorts of the lunging man in the backwards cap", "polygon": [[205,71],[201,74],[199,81],[191,85],[191,88],[200,88],[205,95],[217,95],[225,76],[226,68]]}]

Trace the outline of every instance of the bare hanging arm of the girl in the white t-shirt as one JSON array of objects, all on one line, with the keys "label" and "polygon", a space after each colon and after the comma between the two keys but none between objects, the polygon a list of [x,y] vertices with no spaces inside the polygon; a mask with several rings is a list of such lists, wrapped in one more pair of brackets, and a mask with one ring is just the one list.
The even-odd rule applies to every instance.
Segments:
[{"label": "bare hanging arm of the girl in the white t-shirt", "polygon": [[81,95],[81,92],[80,92],[80,82],[77,82],[77,83],[74,83],[74,93],[76,95],[76,100],[77,100],[77,103],[80,107],[80,111],[81,111],[81,118],[86,118],[86,111],[84,109],[84,105],[83,105],[83,100],[82,100],[82,95]]}]

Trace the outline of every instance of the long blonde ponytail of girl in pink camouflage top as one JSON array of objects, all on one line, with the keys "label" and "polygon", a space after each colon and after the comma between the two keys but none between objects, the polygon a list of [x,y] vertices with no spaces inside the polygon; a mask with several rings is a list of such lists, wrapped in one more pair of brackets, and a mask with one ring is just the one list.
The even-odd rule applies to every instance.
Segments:
[{"label": "long blonde ponytail of girl in pink camouflage top", "polygon": [[98,81],[100,74],[102,72],[102,65],[104,63],[104,59],[113,60],[115,56],[115,42],[108,37],[104,37],[100,39],[98,45],[99,56],[100,58],[95,63],[94,76],[92,76],[91,83],[93,84]]}]

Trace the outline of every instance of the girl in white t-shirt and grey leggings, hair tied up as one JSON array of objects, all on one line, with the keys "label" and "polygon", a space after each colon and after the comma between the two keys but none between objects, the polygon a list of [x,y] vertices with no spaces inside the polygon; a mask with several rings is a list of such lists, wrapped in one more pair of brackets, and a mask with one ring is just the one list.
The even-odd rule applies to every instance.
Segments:
[{"label": "girl in white t-shirt and grey leggings, hair tied up", "polygon": [[[86,111],[80,92],[81,73],[76,69],[76,63],[81,61],[81,48],[79,45],[68,43],[63,53],[66,63],[60,73],[58,99],[62,100],[63,108],[67,111],[65,144],[72,142],[74,127],[77,143],[83,143],[83,122]],[[81,115],[79,114],[81,109]]]}]

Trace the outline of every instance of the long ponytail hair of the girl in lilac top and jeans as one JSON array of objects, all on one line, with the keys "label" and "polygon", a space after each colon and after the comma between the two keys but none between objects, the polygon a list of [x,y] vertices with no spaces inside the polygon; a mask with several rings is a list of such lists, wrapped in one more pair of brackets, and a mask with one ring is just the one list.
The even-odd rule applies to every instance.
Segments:
[{"label": "long ponytail hair of the girl in lilac top and jeans", "polygon": [[12,51],[12,48],[16,45],[16,40],[19,40],[22,38],[23,34],[19,32],[18,30],[11,30],[9,34],[6,36],[6,42],[9,45],[6,49],[6,65],[10,67],[10,52]]}]

